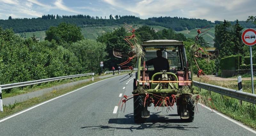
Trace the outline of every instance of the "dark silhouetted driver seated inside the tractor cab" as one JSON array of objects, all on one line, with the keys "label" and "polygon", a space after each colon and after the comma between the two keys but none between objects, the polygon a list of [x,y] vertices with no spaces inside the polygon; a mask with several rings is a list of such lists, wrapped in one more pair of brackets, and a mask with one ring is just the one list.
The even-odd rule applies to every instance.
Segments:
[{"label": "dark silhouetted driver seated inside the tractor cab", "polygon": [[170,70],[169,62],[166,58],[162,57],[162,51],[157,50],[156,56],[157,56],[156,58],[146,61],[146,65],[147,66],[153,65],[155,72],[160,72],[162,70],[167,70],[167,72],[169,72]]}]

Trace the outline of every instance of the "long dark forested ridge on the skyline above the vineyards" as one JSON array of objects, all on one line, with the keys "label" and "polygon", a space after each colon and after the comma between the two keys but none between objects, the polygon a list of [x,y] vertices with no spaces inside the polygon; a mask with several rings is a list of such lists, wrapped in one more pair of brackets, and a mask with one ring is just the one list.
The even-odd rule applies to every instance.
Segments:
[{"label": "long dark forested ridge on the skyline above the vineyards", "polygon": [[[96,19],[97,18],[97,19]],[[214,23],[205,19],[196,18],[178,18],[178,17],[154,17],[148,19],[140,19],[135,16],[119,16],[116,19],[98,19],[99,17],[91,17],[84,15],[74,16],[58,16],[58,18],[49,18],[43,16],[43,18],[15,18],[8,20],[0,20],[0,26],[4,29],[12,28],[14,32],[36,32],[45,31],[50,26],[57,26],[61,22],[76,24],[80,27],[96,27],[96,26],[113,26],[128,24],[141,24],[141,25],[156,25],[162,26],[175,31],[182,31],[187,29],[194,29],[204,27],[206,25],[214,26]]]}]

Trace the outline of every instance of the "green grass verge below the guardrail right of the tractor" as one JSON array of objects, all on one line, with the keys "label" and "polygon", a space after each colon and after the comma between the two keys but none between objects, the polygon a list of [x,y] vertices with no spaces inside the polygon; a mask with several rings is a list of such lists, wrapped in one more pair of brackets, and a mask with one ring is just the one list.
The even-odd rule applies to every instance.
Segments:
[{"label": "green grass verge below the guardrail right of the tractor", "polygon": [[[199,90],[197,87],[195,88]],[[204,89],[201,89],[199,94],[211,97],[217,111],[256,129],[256,107],[252,106],[251,103],[243,102],[240,105],[239,100],[235,98],[227,96],[221,98],[220,94],[214,92],[211,92],[210,95],[209,91]]]}]

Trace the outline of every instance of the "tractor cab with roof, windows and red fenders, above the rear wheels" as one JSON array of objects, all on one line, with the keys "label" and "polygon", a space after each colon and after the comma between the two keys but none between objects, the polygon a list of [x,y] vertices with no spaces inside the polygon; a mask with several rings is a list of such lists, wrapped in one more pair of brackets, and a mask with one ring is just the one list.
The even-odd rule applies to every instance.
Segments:
[{"label": "tractor cab with roof, windows and red fenders, above the rear wheels", "polygon": [[[145,87],[149,90],[159,90],[161,91],[173,91],[178,89],[179,86],[186,85],[185,82],[166,82],[158,83],[156,81],[188,81],[188,65],[186,51],[183,45],[183,41],[177,40],[149,40],[143,42],[143,50],[145,52],[145,57],[140,58],[137,62],[138,69],[142,72],[136,72],[136,79],[140,81],[151,81],[150,83],[140,82],[140,84],[146,85]],[[156,52],[160,50],[162,52],[162,59],[167,59],[168,69],[155,69],[157,66],[154,65],[166,65],[162,64],[160,61],[155,62],[154,65],[147,65],[147,62],[151,59],[157,58]],[[159,52],[159,51],[158,51]],[[154,68],[155,67],[155,68]],[[140,78],[138,78],[138,75]],[[189,83],[189,84],[188,84]],[[190,85],[188,82],[187,85]],[[138,82],[136,82],[137,86]]]}]

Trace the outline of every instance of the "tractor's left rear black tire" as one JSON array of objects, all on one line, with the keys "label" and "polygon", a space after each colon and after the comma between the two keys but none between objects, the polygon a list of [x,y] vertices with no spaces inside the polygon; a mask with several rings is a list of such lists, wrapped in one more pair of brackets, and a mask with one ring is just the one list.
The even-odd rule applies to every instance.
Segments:
[{"label": "tractor's left rear black tire", "polygon": [[140,95],[133,97],[133,120],[135,123],[144,123],[147,118],[141,117],[141,112],[144,108],[143,97]]}]

